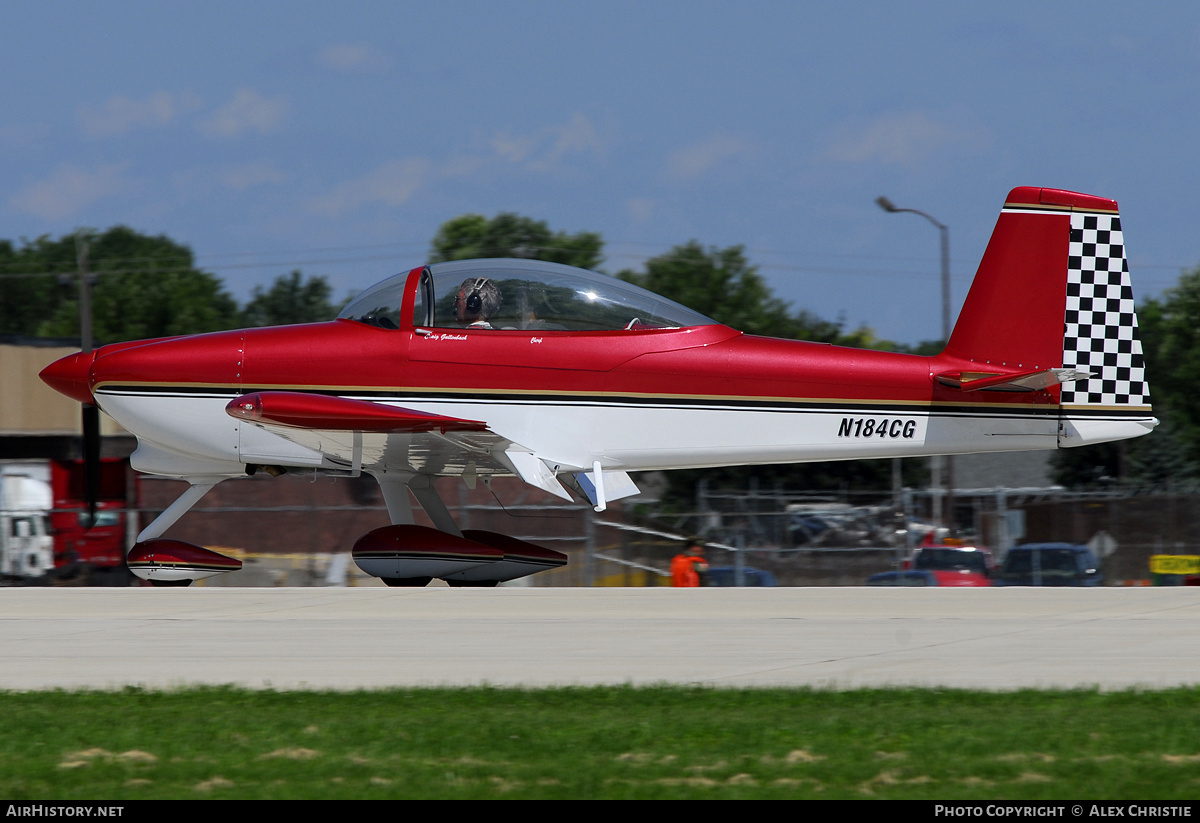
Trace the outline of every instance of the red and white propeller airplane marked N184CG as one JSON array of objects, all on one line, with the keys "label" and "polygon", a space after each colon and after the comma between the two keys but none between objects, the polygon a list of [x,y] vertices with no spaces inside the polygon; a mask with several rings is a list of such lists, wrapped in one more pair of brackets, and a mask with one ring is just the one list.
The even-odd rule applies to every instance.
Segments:
[{"label": "red and white propeller airplane marked N184CG", "polygon": [[355,543],[367,573],[494,585],[566,558],[461,531],[434,477],[516,475],[602,510],[637,493],[630,471],[1138,437],[1158,421],[1136,325],[1117,204],[1022,187],[935,356],[752,337],[614,277],[497,259],[418,266],[330,323],[115,343],[42,379],[136,434],[136,469],[191,483],[138,535],[143,578],[238,569],[162,535],[223,480],[304,469],[379,481],[392,525]]}]

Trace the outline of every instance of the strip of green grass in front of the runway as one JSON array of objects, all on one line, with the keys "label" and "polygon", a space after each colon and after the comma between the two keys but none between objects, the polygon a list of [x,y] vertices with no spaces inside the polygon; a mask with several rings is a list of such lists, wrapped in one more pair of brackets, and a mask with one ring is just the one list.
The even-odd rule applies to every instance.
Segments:
[{"label": "strip of green grass in front of the runway", "polygon": [[1200,795],[1200,689],[131,689],[0,717],[12,800]]}]

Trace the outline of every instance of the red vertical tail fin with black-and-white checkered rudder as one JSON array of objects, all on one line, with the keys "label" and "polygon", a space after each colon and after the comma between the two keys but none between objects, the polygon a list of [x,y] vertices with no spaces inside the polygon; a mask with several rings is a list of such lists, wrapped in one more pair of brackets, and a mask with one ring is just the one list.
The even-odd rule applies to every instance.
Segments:
[{"label": "red vertical tail fin with black-and-white checkered rudder", "polygon": [[1138,410],[1152,420],[1116,202],[1009,192],[943,354],[980,372],[1067,370],[1064,414]]}]

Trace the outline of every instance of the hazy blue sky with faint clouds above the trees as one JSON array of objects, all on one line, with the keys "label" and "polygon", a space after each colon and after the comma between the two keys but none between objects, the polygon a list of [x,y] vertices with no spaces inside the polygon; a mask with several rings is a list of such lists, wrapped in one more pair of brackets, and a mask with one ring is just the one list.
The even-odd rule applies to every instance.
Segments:
[{"label": "hazy blue sky with faint clouds above the trees", "polygon": [[[1200,263],[1188,2],[10,2],[0,238],[118,223],[239,298],[338,298],[457,215],[740,244],[796,308],[902,342],[1014,186],[1121,204],[1139,298]],[[670,296],[670,295],[668,295]],[[1019,320],[1014,320],[1019,322]]]}]

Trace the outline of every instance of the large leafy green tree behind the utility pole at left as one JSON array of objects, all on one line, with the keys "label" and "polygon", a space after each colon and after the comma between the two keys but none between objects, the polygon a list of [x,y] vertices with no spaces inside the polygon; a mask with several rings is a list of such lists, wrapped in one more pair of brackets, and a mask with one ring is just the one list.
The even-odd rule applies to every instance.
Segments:
[{"label": "large leafy green tree behind the utility pole at left", "polygon": [[[215,275],[196,269],[192,250],[164,235],[139,234],[125,226],[103,234],[84,233],[88,269],[96,275],[92,292],[97,342],[190,335],[236,325],[238,302]],[[37,325],[43,337],[77,337],[76,235],[40,238],[17,253],[20,266],[47,275],[68,275],[50,316]]]}]

